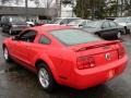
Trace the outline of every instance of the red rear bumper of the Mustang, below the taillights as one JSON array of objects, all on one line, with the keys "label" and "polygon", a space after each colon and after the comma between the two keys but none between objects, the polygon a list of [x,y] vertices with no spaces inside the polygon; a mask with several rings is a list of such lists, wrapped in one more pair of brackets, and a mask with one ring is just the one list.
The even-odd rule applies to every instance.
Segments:
[{"label": "red rear bumper of the Mustang, below the taillights", "polygon": [[76,88],[76,89],[85,89],[88,87],[93,87],[99,84],[104,84],[105,82],[118,76],[123,72],[128,63],[128,57],[123,57],[121,60],[116,62],[88,69],[88,70],[75,70],[72,74],[72,78],[68,86]]}]

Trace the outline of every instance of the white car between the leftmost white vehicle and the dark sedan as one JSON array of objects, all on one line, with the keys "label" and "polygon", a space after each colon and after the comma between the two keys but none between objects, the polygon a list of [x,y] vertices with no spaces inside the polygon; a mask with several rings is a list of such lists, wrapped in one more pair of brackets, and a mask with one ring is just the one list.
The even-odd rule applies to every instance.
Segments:
[{"label": "white car between the leftmost white vehicle and the dark sedan", "polygon": [[74,20],[68,24],[68,26],[73,26],[73,27],[83,27],[91,23],[91,20]]}]

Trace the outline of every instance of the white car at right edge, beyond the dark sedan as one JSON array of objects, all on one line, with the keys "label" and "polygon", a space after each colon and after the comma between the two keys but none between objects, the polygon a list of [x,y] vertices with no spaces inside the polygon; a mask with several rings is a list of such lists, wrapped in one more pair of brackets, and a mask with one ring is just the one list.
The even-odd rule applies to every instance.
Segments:
[{"label": "white car at right edge, beyond the dark sedan", "polygon": [[124,27],[126,34],[131,32],[131,16],[116,17],[115,22]]}]

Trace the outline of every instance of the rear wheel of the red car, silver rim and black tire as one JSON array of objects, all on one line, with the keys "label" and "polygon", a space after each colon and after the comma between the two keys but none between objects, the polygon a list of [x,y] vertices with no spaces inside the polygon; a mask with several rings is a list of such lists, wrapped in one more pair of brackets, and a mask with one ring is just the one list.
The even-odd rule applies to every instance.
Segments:
[{"label": "rear wheel of the red car, silver rim and black tire", "polygon": [[38,64],[38,81],[46,91],[52,91],[56,86],[56,82],[50,70],[44,63]]}]

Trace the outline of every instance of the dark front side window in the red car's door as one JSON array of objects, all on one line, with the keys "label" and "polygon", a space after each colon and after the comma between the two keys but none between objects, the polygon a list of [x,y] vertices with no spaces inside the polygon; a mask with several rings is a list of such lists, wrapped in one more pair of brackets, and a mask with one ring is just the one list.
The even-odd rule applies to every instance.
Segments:
[{"label": "dark front side window in the red car's door", "polygon": [[25,30],[20,35],[19,39],[22,41],[34,42],[36,34],[35,30]]}]

